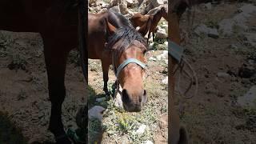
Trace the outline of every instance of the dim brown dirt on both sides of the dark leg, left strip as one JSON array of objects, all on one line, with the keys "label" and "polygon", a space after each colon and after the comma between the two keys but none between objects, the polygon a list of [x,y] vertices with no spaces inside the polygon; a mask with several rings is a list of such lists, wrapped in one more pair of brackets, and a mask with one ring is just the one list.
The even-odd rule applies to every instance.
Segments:
[{"label": "dim brown dirt on both sides of the dark leg, left strip", "polygon": [[[85,102],[86,90],[82,70],[71,56],[66,70],[62,121],[65,128],[76,129],[74,117]],[[54,142],[47,130],[50,101],[40,34],[0,31],[0,79],[0,111],[8,113],[28,143]]]}]

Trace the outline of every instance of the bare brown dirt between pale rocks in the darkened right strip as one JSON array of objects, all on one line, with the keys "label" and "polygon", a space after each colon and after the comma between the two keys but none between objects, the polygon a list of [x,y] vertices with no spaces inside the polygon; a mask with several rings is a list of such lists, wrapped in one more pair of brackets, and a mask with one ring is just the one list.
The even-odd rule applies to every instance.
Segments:
[{"label": "bare brown dirt between pale rocks in the darkened right strip", "polygon": [[[238,8],[243,5],[245,3],[222,3],[212,6],[211,10],[204,4],[199,5],[194,28],[203,23],[218,29],[218,22],[238,14]],[[255,18],[253,14],[246,23],[251,33],[255,33],[252,31]],[[186,17],[182,18],[183,29],[186,23]],[[255,125],[251,111],[256,107],[246,113],[247,110],[237,104],[237,98],[255,85],[252,78],[238,76],[239,68],[255,52],[255,47],[246,45],[246,40],[241,38],[244,32],[234,27],[230,37],[220,33],[219,38],[193,33],[185,46],[186,58],[198,75],[199,86],[194,98],[185,101],[178,98],[183,109],[177,105],[177,110],[186,123],[191,143],[254,143],[256,140],[255,131],[251,130]],[[250,124],[249,128],[246,124]]]}]

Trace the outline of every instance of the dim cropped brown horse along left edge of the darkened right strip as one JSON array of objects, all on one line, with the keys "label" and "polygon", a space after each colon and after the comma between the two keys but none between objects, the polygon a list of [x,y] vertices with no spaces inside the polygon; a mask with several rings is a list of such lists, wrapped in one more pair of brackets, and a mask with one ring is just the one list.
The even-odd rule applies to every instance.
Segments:
[{"label": "dim cropped brown horse along left edge of the darkened right strip", "polygon": [[[169,11],[168,11],[168,39],[170,42],[174,42],[177,45],[181,44],[181,36],[179,29],[179,21],[182,17],[182,14],[186,9],[190,9],[191,6],[198,5],[204,2],[211,2],[211,0],[171,0],[169,2]],[[174,47],[169,47],[173,49]],[[170,50],[171,51],[171,50]],[[179,117],[177,111],[174,110],[174,87],[175,87],[175,77],[174,77],[174,67],[178,65],[178,61],[169,55],[168,62],[168,72],[169,72],[169,100],[168,100],[168,110],[169,113],[169,124],[170,128],[168,130],[168,142],[172,144],[187,144],[189,143],[189,138],[186,133],[186,129],[179,122]]]}]

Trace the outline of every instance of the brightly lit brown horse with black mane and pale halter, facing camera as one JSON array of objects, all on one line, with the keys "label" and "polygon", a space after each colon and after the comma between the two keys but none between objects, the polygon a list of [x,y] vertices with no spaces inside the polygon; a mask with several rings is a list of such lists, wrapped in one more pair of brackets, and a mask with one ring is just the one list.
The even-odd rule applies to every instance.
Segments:
[{"label": "brightly lit brown horse with black mane and pale halter, facing camera", "polygon": [[128,19],[114,11],[89,14],[89,58],[101,59],[104,88],[107,93],[108,71],[113,65],[122,86],[122,102],[127,111],[140,111],[146,102],[142,85],[145,39],[130,25]]}]

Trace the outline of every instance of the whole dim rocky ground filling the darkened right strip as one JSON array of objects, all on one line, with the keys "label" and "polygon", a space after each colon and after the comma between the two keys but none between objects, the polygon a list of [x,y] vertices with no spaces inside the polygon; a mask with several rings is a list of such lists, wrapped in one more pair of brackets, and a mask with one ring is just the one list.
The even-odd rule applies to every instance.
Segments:
[{"label": "whole dim rocky ground filling the darkened right strip", "polygon": [[[191,143],[254,143],[255,2],[207,3],[194,10],[193,30],[183,44],[198,75],[198,94],[177,101]],[[181,25],[187,30],[186,14]]]}]

